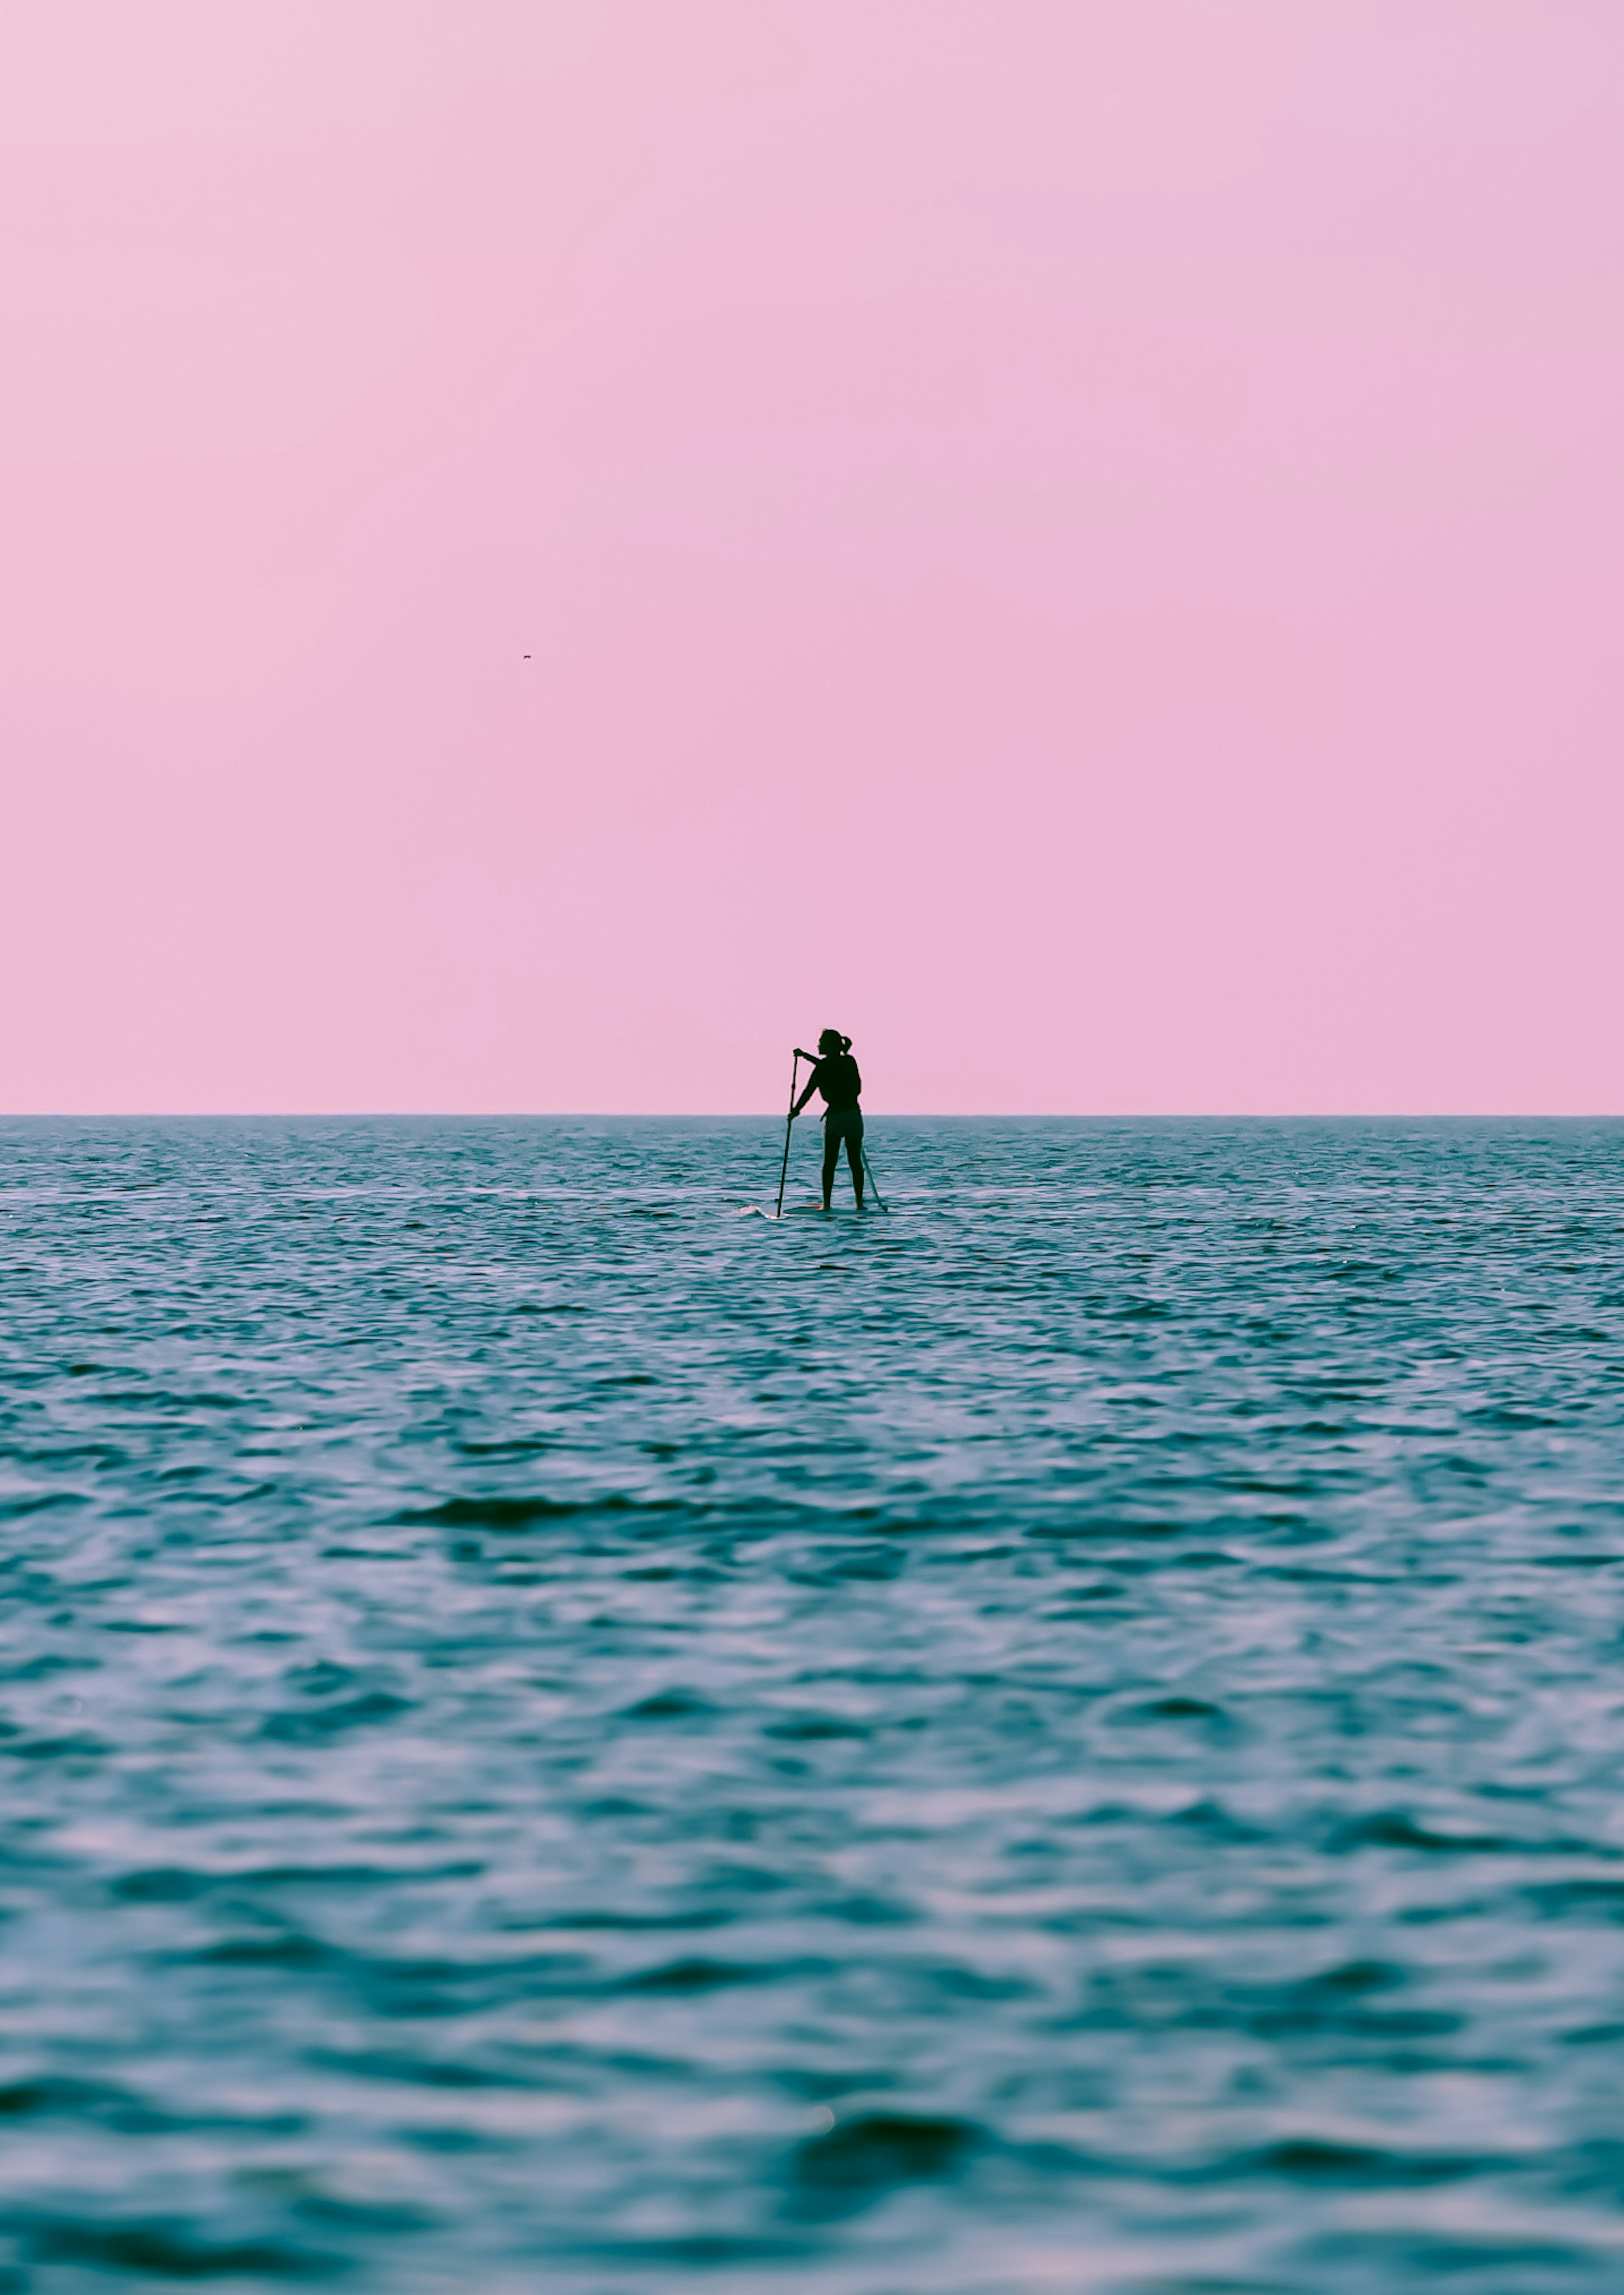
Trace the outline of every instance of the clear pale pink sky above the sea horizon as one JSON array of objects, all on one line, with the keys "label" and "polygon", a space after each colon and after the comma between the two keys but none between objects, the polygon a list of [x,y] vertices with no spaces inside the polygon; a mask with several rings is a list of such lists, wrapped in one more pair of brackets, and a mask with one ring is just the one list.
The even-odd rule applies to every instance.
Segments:
[{"label": "clear pale pink sky above the sea horizon", "polygon": [[0,250],[7,1106],[1624,1108],[1617,0],[7,5]]}]

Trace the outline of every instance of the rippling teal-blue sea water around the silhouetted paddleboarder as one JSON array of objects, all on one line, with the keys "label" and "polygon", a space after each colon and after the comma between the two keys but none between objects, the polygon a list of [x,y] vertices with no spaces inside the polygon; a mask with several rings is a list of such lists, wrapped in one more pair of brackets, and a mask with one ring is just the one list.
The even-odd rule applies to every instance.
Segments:
[{"label": "rippling teal-blue sea water around the silhouetted paddleboarder", "polygon": [[1624,1127],[0,1125],[0,2290],[1624,2286]]}]

